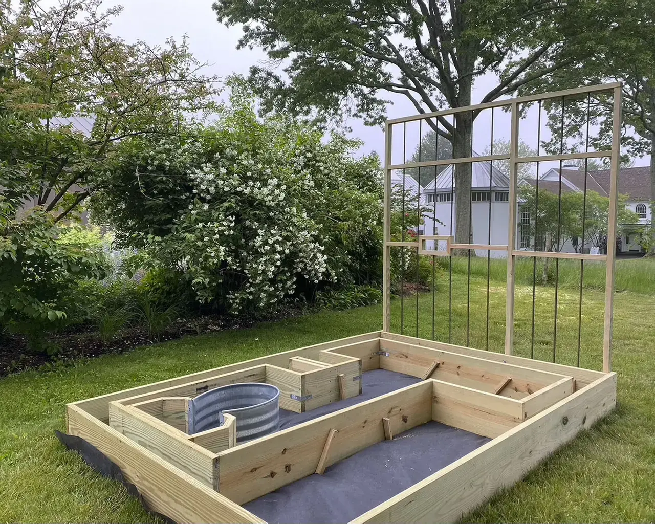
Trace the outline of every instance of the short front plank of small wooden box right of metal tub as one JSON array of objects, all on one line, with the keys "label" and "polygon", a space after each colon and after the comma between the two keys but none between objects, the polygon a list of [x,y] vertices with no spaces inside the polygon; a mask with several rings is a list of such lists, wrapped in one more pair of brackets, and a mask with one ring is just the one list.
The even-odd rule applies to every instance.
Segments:
[{"label": "short front plank of small wooden box right of metal tub", "polygon": [[311,395],[311,398],[303,401],[303,411],[310,411],[330,402],[341,400],[339,375],[344,375],[345,398],[360,394],[362,372],[359,360],[309,371],[303,373],[303,396]]}]

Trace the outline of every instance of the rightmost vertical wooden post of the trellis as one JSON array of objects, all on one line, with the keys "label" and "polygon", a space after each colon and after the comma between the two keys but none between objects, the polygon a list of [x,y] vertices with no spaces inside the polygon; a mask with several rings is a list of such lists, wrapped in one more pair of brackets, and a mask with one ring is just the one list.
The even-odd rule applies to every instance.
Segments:
[{"label": "rightmost vertical wooden post of the trellis", "polygon": [[612,115],[612,157],[610,159],[610,204],[607,225],[607,267],[605,269],[605,326],[603,327],[603,371],[612,371],[612,322],[614,318],[614,259],[616,255],[616,204],[621,150],[621,86],[614,88]]}]

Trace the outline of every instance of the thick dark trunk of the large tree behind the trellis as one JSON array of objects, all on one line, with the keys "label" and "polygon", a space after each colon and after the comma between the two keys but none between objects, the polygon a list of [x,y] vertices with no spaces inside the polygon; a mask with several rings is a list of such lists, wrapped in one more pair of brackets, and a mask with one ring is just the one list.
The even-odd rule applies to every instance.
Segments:
[{"label": "thick dark trunk of the large tree behind the trellis", "polygon": [[[471,85],[461,85],[458,96],[459,107],[471,104]],[[472,157],[473,115],[466,111],[455,115],[453,132],[453,158]],[[455,243],[472,244],[471,223],[471,164],[455,164]],[[467,254],[468,250],[458,250],[455,254]],[[472,256],[476,252],[471,252]]]}]

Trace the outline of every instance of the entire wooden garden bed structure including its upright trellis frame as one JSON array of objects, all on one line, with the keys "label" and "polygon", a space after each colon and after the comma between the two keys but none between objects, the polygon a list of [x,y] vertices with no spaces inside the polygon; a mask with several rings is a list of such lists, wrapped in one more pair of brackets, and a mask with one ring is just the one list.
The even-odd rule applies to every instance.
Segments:
[{"label": "entire wooden garden bed structure including its upright trellis frame", "polygon": [[[612,148],[538,157],[518,156],[521,105],[538,100],[612,92]],[[508,160],[509,200],[516,202],[521,162],[607,157],[610,159],[608,238],[616,232],[621,85],[547,93],[445,109],[386,122],[384,177],[383,330],[264,356],[67,405],[67,430],[94,445],[136,485],[147,506],[178,522],[262,520],[244,504],[366,447],[426,422],[438,421],[492,438],[475,451],[356,517],[354,523],[456,521],[531,468],[616,405],[612,373],[614,250],[587,253],[515,250],[516,206],[510,205],[508,246],[456,244],[451,236],[415,242],[390,237],[390,175],[394,169],[458,162]],[[510,153],[467,159],[392,165],[392,125],[436,119],[463,111],[506,107],[511,111]],[[446,241],[444,252],[426,240]],[[390,333],[390,250],[416,248],[418,255],[448,256],[451,250],[506,250],[508,257],[505,353],[488,352]],[[607,263],[603,371],[514,356],[515,257],[569,257]],[[554,357],[553,357],[554,360]],[[400,390],[357,403],[239,445],[235,422],[189,435],[189,400],[225,384],[271,383],[280,407],[302,413],[362,392],[362,373],[387,369],[422,379]]]}]

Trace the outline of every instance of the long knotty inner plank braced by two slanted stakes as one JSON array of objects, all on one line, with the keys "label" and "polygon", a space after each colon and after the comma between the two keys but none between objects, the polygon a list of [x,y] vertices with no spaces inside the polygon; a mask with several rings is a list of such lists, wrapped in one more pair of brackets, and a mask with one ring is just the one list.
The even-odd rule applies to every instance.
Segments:
[{"label": "long knotty inner plank braced by two slanted stakes", "polygon": [[326,466],[384,440],[380,419],[394,434],[432,420],[432,384],[424,381],[346,409],[318,417],[219,453],[220,491],[238,504],[313,474],[324,438],[334,428],[339,438]]}]

